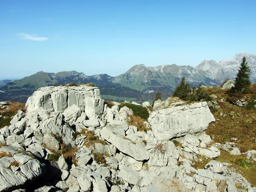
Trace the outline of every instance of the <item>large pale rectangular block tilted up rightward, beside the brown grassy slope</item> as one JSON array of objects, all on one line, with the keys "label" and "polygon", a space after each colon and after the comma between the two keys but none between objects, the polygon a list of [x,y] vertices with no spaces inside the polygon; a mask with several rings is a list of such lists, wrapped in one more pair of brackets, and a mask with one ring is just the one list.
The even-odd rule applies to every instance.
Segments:
[{"label": "large pale rectangular block tilted up rightward, beside the brown grassy slope", "polygon": [[154,137],[158,140],[204,131],[214,121],[207,102],[162,109],[151,113],[148,118]]}]

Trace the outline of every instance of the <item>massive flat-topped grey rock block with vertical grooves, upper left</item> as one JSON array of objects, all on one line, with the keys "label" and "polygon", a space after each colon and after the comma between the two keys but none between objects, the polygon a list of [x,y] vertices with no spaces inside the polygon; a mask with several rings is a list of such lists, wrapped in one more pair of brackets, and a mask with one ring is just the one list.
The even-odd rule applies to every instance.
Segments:
[{"label": "massive flat-topped grey rock block with vertical grooves, upper left", "polygon": [[51,86],[41,87],[33,93],[26,102],[27,112],[43,108],[51,112],[63,113],[73,105],[78,106],[89,118],[101,119],[104,100],[98,87],[80,86]]}]

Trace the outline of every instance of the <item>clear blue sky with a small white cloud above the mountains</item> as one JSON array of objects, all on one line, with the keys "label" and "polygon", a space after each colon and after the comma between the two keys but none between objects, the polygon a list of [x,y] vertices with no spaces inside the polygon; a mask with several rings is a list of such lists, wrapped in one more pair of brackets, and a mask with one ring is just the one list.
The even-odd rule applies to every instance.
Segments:
[{"label": "clear blue sky with a small white cloud above the mountains", "polygon": [[0,0],[0,79],[256,54],[256,1]]}]

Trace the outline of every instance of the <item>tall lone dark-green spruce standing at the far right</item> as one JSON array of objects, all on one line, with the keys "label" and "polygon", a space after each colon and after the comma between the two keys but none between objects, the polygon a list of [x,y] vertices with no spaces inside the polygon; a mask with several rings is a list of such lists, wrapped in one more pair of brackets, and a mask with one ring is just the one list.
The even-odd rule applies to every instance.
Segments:
[{"label": "tall lone dark-green spruce standing at the far right", "polygon": [[243,57],[236,75],[234,87],[232,87],[232,92],[243,93],[250,84],[250,66],[247,63],[246,58]]}]

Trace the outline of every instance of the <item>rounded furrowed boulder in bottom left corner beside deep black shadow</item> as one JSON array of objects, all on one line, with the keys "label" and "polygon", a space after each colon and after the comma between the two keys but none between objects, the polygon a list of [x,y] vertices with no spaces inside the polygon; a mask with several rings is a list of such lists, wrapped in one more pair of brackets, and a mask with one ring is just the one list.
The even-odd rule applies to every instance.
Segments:
[{"label": "rounded furrowed boulder in bottom left corner beside deep black shadow", "polygon": [[4,146],[0,148],[0,154],[0,191],[19,189],[46,171],[44,164],[21,147]]}]

